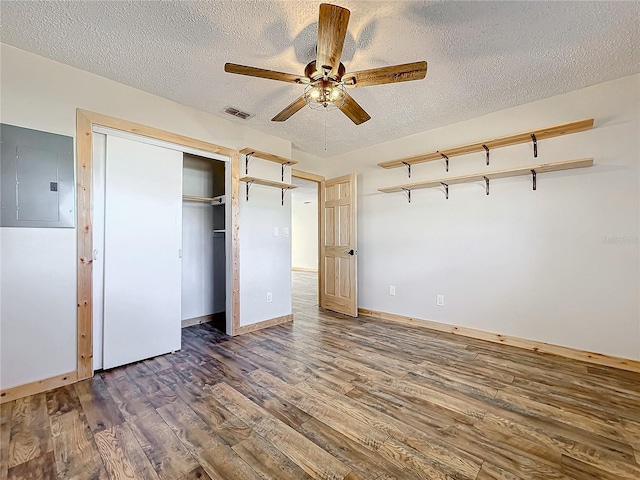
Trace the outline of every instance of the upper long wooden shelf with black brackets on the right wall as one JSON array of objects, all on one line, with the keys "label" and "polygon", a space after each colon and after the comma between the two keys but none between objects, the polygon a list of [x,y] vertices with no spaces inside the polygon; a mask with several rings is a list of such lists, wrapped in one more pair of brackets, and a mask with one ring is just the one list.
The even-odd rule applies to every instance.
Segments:
[{"label": "upper long wooden shelf with black brackets on the right wall", "polygon": [[[459,155],[465,155],[467,153],[484,152],[486,154],[487,165],[489,165],[489,152],[494,148],[507,147],[510,145],[517,145],[519,143],[533,142],[534,145],[534,157],[537,157],[537,141],[545,138],[558,137],[560,135],[567,135],[570,133],[582,132],[589,130],[593,127],[593,118],[586,118],[584,120],[578,120],[575,122],[562,123],[560,125],[553,125],[551,127],[541,128],[538,130],[531,130],[529,132],[516,133],[514,135],[507,135],[505,137],[494,138],[484,142],[470,143],[468,145],[462,145],[459,147],[447,148],[444,150],[438,150],[431,153],[421,153],[411,157],[399,158],[397,160],[388,160],[386,162],[378,163],[382,168],[398,168],[407,167],[409,170],[409,177],[411,176],[411,165],[416,163],[433,162],[435,160],[444,159],[447,164],[447,171],[449,171],[449,158]],[[423,187],[424,188],[424,187]]]}]

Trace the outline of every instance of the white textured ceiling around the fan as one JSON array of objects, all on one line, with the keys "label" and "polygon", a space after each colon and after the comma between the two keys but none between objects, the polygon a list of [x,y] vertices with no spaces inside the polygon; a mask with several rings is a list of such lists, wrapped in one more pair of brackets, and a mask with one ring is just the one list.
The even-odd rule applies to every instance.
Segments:
[{"label": "white textured ceiling around the fan", "polygon": [[[301,74],[315,57],[319,3],[3,0],[0,38],[321,157],[640,71],[638,2],[345,0],[347,71],[426,60],[426,79],[350,90],[372,117],[360,126],[309,108],[271,122],[303,87],[231,75],[224,63]],[[255,117],[224,115],[227,105]]]}]

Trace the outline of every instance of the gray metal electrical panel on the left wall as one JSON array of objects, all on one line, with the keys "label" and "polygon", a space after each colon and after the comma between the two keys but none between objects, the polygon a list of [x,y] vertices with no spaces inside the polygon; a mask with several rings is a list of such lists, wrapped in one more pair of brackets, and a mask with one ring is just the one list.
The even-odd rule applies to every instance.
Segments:
[{"label": "gray metal electrical panel on the left wall", "polygon": [[2,227],[74,227],[73,138],[0,124]]}]

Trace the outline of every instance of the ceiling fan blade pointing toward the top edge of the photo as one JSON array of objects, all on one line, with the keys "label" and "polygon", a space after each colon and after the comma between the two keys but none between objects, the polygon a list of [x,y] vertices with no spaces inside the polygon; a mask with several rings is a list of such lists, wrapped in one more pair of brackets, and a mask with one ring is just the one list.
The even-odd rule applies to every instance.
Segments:
[{"label": "ceiling fan blade pointing toward the top edge of the photo", "polygon": [[340,65],[344,37],[347,35],[350,12],[337,5],[323,3],[320,5],[318,19],[318,52],[316,68],[323,72],[323,67],[331,67],[329,75],[335,76]]}]

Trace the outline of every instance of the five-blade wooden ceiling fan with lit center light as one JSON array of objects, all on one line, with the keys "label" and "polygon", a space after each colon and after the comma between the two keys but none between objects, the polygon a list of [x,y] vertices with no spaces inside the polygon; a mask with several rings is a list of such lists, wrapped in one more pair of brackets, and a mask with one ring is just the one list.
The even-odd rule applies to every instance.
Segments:
[{"label": "five-blade wooden ceiling fan with lit center light", "polygon": [[427,62],[413,62],[390,67],[373,68],[345,73],[340,62],[342,47],[347,34],[350,12],[337,5],[320,5],[316,59],[304,69],[304,75],[276,72],[235,63],[226,63],[225,72],[250,77],[268,78],[281,82],[306,85],[304,93],[271,119],[284,122],[305,105],[311,108],[332,110],[339,108],[356,125],[371,117],[349,95],[345,87],[368,87],[384,83],[422,80],[427,74]]}]

